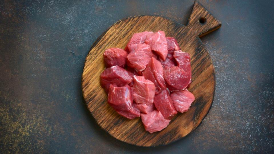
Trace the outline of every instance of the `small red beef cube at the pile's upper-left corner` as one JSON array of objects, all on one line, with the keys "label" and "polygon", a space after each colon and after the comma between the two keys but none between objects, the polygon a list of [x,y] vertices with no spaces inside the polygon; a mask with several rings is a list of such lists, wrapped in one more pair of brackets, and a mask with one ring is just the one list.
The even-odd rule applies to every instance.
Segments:
[{"label": "small red beef cube at the pile's upper-left corner", "polygon": [[106,67],[118,65],[124,67],[128,53],[120,48],[109,48],[104,52]]}]

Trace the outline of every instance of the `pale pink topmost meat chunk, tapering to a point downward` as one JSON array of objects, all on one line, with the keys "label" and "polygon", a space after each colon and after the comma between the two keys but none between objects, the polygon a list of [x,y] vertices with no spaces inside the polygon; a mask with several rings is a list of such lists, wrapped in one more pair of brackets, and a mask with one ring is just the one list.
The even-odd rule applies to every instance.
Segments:
[{"label": "pale pink topmost meat chunk, tapering to a point downward", "polygon": [[164,31],[158,31],[152,36],[147,37],[145,43],[148,44],[151,50],[154,50],[162,60],[168,55],[168,43]]}]

